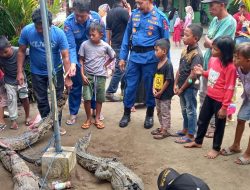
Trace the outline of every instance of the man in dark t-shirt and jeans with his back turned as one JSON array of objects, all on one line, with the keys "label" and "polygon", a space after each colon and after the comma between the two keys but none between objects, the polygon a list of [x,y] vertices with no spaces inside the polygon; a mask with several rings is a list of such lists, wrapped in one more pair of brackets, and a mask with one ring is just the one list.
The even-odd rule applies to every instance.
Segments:
[{"label": "man in dark t-shirt and jeans with his back turned", "polygon": [[[106,91],[106,99],[109,101],[120,101],[120,98],[114,96],[114,93],[116,93],[119,82],[123,77],[123,72],[120,70],[118,63],[121,43],[129,19],[129,12],[130,10],[123,7],[122,0],[115,0],[113,8],[107,15],[107,42],[116,53],[115,72]],[[123,90],[123,85],[121,89]]]}]

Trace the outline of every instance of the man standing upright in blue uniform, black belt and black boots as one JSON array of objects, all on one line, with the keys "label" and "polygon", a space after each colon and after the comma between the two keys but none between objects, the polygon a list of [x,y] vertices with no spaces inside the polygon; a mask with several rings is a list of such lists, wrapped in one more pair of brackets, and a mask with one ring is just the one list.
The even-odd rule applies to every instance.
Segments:
[{"label": "man standing upright in blue uniform, black belt and black boots", "polygon": [[132,11],[120,52],[119,65],[121,70],[124,70],[131,45],[125,74],[124,115],[119,126],[128,125],[131,107],[135,102],[136,89],[140,78],[143,78],[147,105],[144,128],[150,129],[154,124],[155,107],[152,93],[153,76],[159,61],[154,53],[154,45],[158,39],[169,39],[168,20],[165,14],[153,6],[153,0],[136,0],[135,2],[138,8]]}]

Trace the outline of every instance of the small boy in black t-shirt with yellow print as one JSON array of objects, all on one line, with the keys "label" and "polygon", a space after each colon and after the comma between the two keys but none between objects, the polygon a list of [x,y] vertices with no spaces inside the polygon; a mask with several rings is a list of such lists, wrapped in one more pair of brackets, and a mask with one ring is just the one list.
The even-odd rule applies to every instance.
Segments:
[{"label": "small boy in black t-shirt with yellow print", "polygon": [[171,136],[171,99],[174,95],[174,70],[167,58],[170,44],[165,39],[156,41],[155,55],[160,59],[154,76],[153,94],[156,101],[157,115],[161,128],[151,132],[154,139]]}]

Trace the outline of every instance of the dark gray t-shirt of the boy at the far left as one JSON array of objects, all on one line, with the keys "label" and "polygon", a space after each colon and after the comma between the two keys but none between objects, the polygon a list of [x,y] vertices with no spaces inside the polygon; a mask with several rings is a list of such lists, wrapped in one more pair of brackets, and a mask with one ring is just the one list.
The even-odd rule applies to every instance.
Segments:
[{"label": "dark gray t-shirt of the boy at the far left", "polygon": [[[9,58],[0,57],[0,68],[4,72],[4,82],[10,85],[18,85],[17,77],[17,47],[12,47],[13,55]],[[26,52],[27,55],[27,52]],[[24,76],[25,77],[25,76]]]}]

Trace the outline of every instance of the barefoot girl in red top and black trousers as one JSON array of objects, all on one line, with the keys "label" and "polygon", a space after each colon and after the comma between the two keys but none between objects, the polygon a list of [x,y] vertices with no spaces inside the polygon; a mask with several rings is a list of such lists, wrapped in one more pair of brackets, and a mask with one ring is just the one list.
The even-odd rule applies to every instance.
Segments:
[{"label": "barefoot girl in red top and black trousers", "polygon": [[209,60],[209,69],[203,71],[201,66],[194,68],[196,74],[202,74],[208,78],[208,89],[197,122],[198,132],[195,141],[184,145],[184,147],[202,147],[210,119],[215,114],[213,148],[206,155],[209,159],[214,159],[220,154],[227,108],[234,93],[236,68],[232,62],[233,52],[234,40],[229,36],[218,37],[213,42],[213,57]]}]

